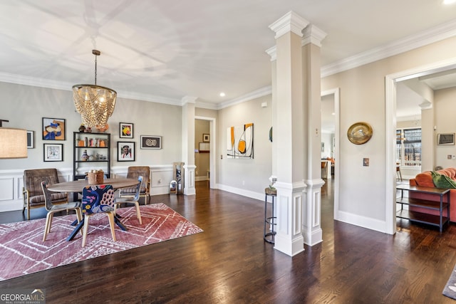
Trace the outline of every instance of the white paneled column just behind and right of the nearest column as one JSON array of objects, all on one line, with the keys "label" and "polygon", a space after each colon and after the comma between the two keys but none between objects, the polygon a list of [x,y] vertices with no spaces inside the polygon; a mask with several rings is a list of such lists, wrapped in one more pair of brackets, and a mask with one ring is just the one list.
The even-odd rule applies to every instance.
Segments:
[{"label": "white paneled column just behind and right of the nearest column", "polygon": [[[302,39],[304,70],[304,105],[307,125],[306,196],[303,209],[304,243],[314,246],[323,241],[321,231],[321,41],[326,33],[314,25],[307,26]],[[330,169],[331,170],[331,169]],[[331,172],[329,174],[331,176]]]}]

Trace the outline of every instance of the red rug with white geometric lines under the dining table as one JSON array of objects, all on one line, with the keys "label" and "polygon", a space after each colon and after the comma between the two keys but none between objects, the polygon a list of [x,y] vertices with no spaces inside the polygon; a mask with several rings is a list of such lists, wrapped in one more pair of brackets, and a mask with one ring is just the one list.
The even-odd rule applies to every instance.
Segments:
[{"label": "red rug with white geometric lines under the dining table", "polygon": [[115,226],[116,241],[110,234],[108,216],[94,214],[89,220],[84,248],[80,233],[73,241],[66,241],[74,229],[71,223],[76,215],[54,216],[51,233],[44,242],[46,219],[0,224],[0,281],[202,232],[165,204],[140,206],[140,211],[142,225],[134,207],[118,209],[120,220],[128,230]]}]

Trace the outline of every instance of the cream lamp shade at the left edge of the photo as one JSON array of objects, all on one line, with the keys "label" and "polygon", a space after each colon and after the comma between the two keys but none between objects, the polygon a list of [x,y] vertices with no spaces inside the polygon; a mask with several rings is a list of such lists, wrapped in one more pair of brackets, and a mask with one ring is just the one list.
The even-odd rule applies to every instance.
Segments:
[{"label": "cream lamp shade at the left edge of the photo", "polygon": [[27,131],[0,127],[0,159],[27,157]]}]

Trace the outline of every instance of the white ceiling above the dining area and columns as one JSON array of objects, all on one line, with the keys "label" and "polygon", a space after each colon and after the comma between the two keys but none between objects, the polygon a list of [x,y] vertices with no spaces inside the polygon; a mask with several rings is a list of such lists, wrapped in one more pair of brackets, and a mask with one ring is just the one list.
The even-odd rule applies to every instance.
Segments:
[{"label": "white ceiling above the dining area and columns", "polygon": [[456,27],[442,0],[2,0],[0,81],[93,83],[97,48],[97,83],[120,97],[219,108],[269,87],[268,26],[289,11],[327,33],[322,70]]}]

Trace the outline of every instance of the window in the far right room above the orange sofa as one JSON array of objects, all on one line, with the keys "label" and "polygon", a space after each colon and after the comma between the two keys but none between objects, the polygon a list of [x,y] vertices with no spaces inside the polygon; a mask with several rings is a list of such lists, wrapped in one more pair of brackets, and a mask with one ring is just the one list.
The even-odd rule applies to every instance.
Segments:
[{"label": "window in the far right room above the orange sofa", "polygon": [[421,166],[421,128],[396,130],[396,162]]}]

